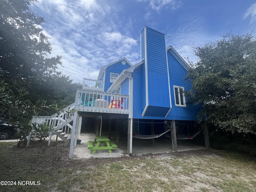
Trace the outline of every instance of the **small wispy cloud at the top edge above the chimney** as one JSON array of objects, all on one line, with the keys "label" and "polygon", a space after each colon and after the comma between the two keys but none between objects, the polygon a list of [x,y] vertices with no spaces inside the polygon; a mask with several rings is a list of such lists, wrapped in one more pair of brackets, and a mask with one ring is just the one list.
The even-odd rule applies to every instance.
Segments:
[{"label": "small wispy cloud at the top edge above the chimney", "polygon": [[138,0],[138,2],[149,2],[150,7],[156,11],[160,11],[162,8],[168,7],[175,10],[182,5],[182,2],[179,0]]}]

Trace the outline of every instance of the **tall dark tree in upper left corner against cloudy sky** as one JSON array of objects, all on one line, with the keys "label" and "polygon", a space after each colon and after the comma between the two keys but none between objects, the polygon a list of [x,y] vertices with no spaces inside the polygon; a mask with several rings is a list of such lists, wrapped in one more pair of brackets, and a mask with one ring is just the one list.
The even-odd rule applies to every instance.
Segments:
[{"label": "tall dark tree in upper left corner against cloudy sky", "polygon": [[36,0],[0,1],[0,70],[6,83],[16,80],[27,88],[56,73],[61,57],[48,58],[51,46],[40,28],[44,22],[30,9]]}]

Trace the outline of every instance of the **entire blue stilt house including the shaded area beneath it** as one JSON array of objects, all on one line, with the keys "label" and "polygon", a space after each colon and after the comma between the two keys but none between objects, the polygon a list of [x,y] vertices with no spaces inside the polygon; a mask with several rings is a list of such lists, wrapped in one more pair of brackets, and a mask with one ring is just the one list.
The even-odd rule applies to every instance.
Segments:
[{"label": "entire blue stilt house including the shaded area beneath it", "polygon": [[140,62],[121,58],[102,66],[96,80],[84,78],[63,112],[33,117],[53,127],[50,137],[70,141],[70,159],[81,132],[104,135],[130,156],[210,148],[206,123],[197,124],[200,106],[184,96],[190,66],[166,47],[165,34],[145,26],[140,37]]}]

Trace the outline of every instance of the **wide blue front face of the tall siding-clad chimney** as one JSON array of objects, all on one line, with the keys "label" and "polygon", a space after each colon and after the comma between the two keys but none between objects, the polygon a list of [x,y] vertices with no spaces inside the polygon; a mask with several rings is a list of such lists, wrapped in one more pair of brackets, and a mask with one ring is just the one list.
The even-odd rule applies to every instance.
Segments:
[{"label": "wide blue front face of the tall siding-clad chimney", "polygon": [[146,79],[148,83],[148,90],[146,90],[148,92],[148,109],[144,116],[164,117],[170,110],[165,36],[160,32],[146,28],[145,39],[147,46],[145,67],[148,70],[148,79]]}]

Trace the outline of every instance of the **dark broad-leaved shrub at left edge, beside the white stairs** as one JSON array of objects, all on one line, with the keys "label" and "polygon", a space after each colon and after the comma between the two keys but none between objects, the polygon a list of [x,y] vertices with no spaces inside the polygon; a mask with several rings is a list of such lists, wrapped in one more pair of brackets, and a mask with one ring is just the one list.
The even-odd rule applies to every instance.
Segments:
[{"label": "dark broad-leaved shrub at left edge, beside the white stairs", "polygon": [[[19,86],[15,81],[12,84],[0,82],[0,120],[14,127],[20,128],[20,136],[26,138],[33,127],[30,120],[33,115],[38,115],[46,109],[53,109],[55,106],[46,106],[44,100],[38,100],[35,104],[25,99],[29,94],[26,89]],[[45,128],[45,126],[41,126]],[[40,130],[40,126],[38,128]],[[42,136],[42,135],[41,135]]]}]

